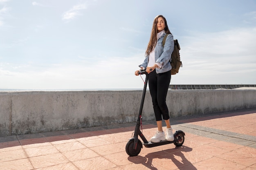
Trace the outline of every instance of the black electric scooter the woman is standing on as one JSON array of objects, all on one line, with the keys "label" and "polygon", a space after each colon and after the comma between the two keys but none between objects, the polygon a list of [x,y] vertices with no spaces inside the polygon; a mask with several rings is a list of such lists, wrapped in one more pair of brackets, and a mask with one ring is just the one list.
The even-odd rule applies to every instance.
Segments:
[{"label": "black electric scooter the woman is standing on", "polygon": [[140,104],[140,108],[139,108],[139,116],[137,119],[137,123],[135,126],[135,131],[134,131],[134,136],[129,139],[128,143],[126,144],[126,153],[131,156],[137,156],[139,155],[139,152],[141,151],[142,148],[142,143],[141,141],[138,139],[138,136],[142,139],[142,141],[144,142],[143,145],[146,148],[152,148],[155,146],[162,146],[162,145],[166,145],[166,144],[174,144],[175,146],[182,146],[182,144],[184,143],[185,140],[185,133],[182,130],[177,130],[174,133],[174,141],[160,141],[158,143],[153,143],[151,141],[148,141],[146,139],[146,137],[144,137],[144,135],[142,134],[141,130],[140,130],[140,125],[141,125],[141,115],[142,115],[142,109],[143,109],[143,104],[144,104],[144,99],[145,99],[145,95],[146,95],[146,88],[148,85],[148,73],[146,72],[146,69],[144,70],[140,70],[138,72],[139,75],[145,74],[146,75],[146,79],[144,82],[144,89],[143,89],[143,94],[142,94],[142,99],[141,99],[141,104]]}]

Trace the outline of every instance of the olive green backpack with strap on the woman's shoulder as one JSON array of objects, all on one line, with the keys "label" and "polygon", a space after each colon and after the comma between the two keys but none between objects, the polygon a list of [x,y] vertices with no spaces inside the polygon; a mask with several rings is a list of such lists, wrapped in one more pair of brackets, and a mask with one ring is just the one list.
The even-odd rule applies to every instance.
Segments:
[{"label": "olive green backpack with strap on the woman's shoulder", "polygon": [[[166,34],[164,36],[162,45],[164,46],[166,38],[167,38]],[[182,67],[182,62],[180,61],[180,44],[178,43],[178,40],[173,40],[174,41],[174,49],[173,49],[173,53],[171,55],[171,75],[174,75],[176,73],[179,73],[179,69],[180,67]]]}]

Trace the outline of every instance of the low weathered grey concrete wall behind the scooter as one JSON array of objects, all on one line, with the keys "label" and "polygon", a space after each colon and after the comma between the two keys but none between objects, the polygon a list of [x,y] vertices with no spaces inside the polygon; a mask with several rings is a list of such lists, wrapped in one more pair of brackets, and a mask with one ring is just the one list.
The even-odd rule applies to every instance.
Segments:
[{"label": "low weathered grey concrete wall behind the scooter", "polygon": [[[135,122],[142,91],[0,92],[0,136]],[[256,108],[256,90],[170,90],[171,117]],[[143,120],[155,120],[149,91]]]}]

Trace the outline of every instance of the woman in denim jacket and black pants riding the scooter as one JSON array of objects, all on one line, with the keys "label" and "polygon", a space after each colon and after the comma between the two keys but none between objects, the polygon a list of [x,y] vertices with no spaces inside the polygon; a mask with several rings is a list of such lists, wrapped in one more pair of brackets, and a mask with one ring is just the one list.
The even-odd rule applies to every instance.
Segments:
[{"label": "woman in denim jacket and black pants riding the scooter", "polygon": [[[163,47],[162,41],[166,33],[169,35]],[[156,134],[150,139],[154,143],[165,139],[167,141],[174,140],[173,130],[169,121],[169,111],[166,105],[166,95],[171,81],[171,64],[169,61],[171,60],[173,48],[173,35],[168,29],[166,19],[163,15],[158,15],[153,22],[148,48],[145,53],[146,58],[139,65],[141,69],[146,68],[146,72],[149,74],[148,86],[158,128]],[[138,70],[135,71],[135,75],[139,75]],[[162,128],[162,118],[166,123],[166,137]]]}]

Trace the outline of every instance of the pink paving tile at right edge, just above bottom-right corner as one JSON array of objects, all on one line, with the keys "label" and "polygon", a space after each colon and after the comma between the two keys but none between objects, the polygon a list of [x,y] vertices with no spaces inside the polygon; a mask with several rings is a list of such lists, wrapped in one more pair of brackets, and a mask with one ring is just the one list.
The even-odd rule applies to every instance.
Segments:
[{"label": "pink paving tile at right edge, just above bottom-right corner", "polygon": [[217,157],[244,166],[252,166],[256,162],[256,149],[243,147],[231,152],[224,153],[222,155],[218,155]]}]

